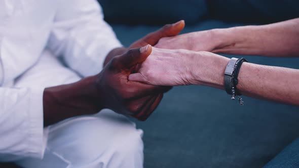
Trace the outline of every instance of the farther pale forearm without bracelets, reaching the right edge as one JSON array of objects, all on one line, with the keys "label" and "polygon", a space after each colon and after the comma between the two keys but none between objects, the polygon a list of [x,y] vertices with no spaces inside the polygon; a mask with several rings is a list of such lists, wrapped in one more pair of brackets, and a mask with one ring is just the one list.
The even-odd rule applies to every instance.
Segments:
[{"label": "farther pale forearm without bracelets, reaching the right edge", "polygon": [[299,18],[261,26],[213,29],[220,44],[212,52],[271,57],[299,56]]}]

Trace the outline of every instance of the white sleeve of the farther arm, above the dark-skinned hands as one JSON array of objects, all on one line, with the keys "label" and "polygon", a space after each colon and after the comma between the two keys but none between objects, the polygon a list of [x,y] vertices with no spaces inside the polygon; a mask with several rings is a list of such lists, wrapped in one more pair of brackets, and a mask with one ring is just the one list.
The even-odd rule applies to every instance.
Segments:
[{"label": "white sleeve of the farther arm, above the dark-skinned hands", "polygon": [[48,48],[83,76],[99,73],[106,55],[122,47],[101,7],[95,0],[63,0],[57,6]]}]

